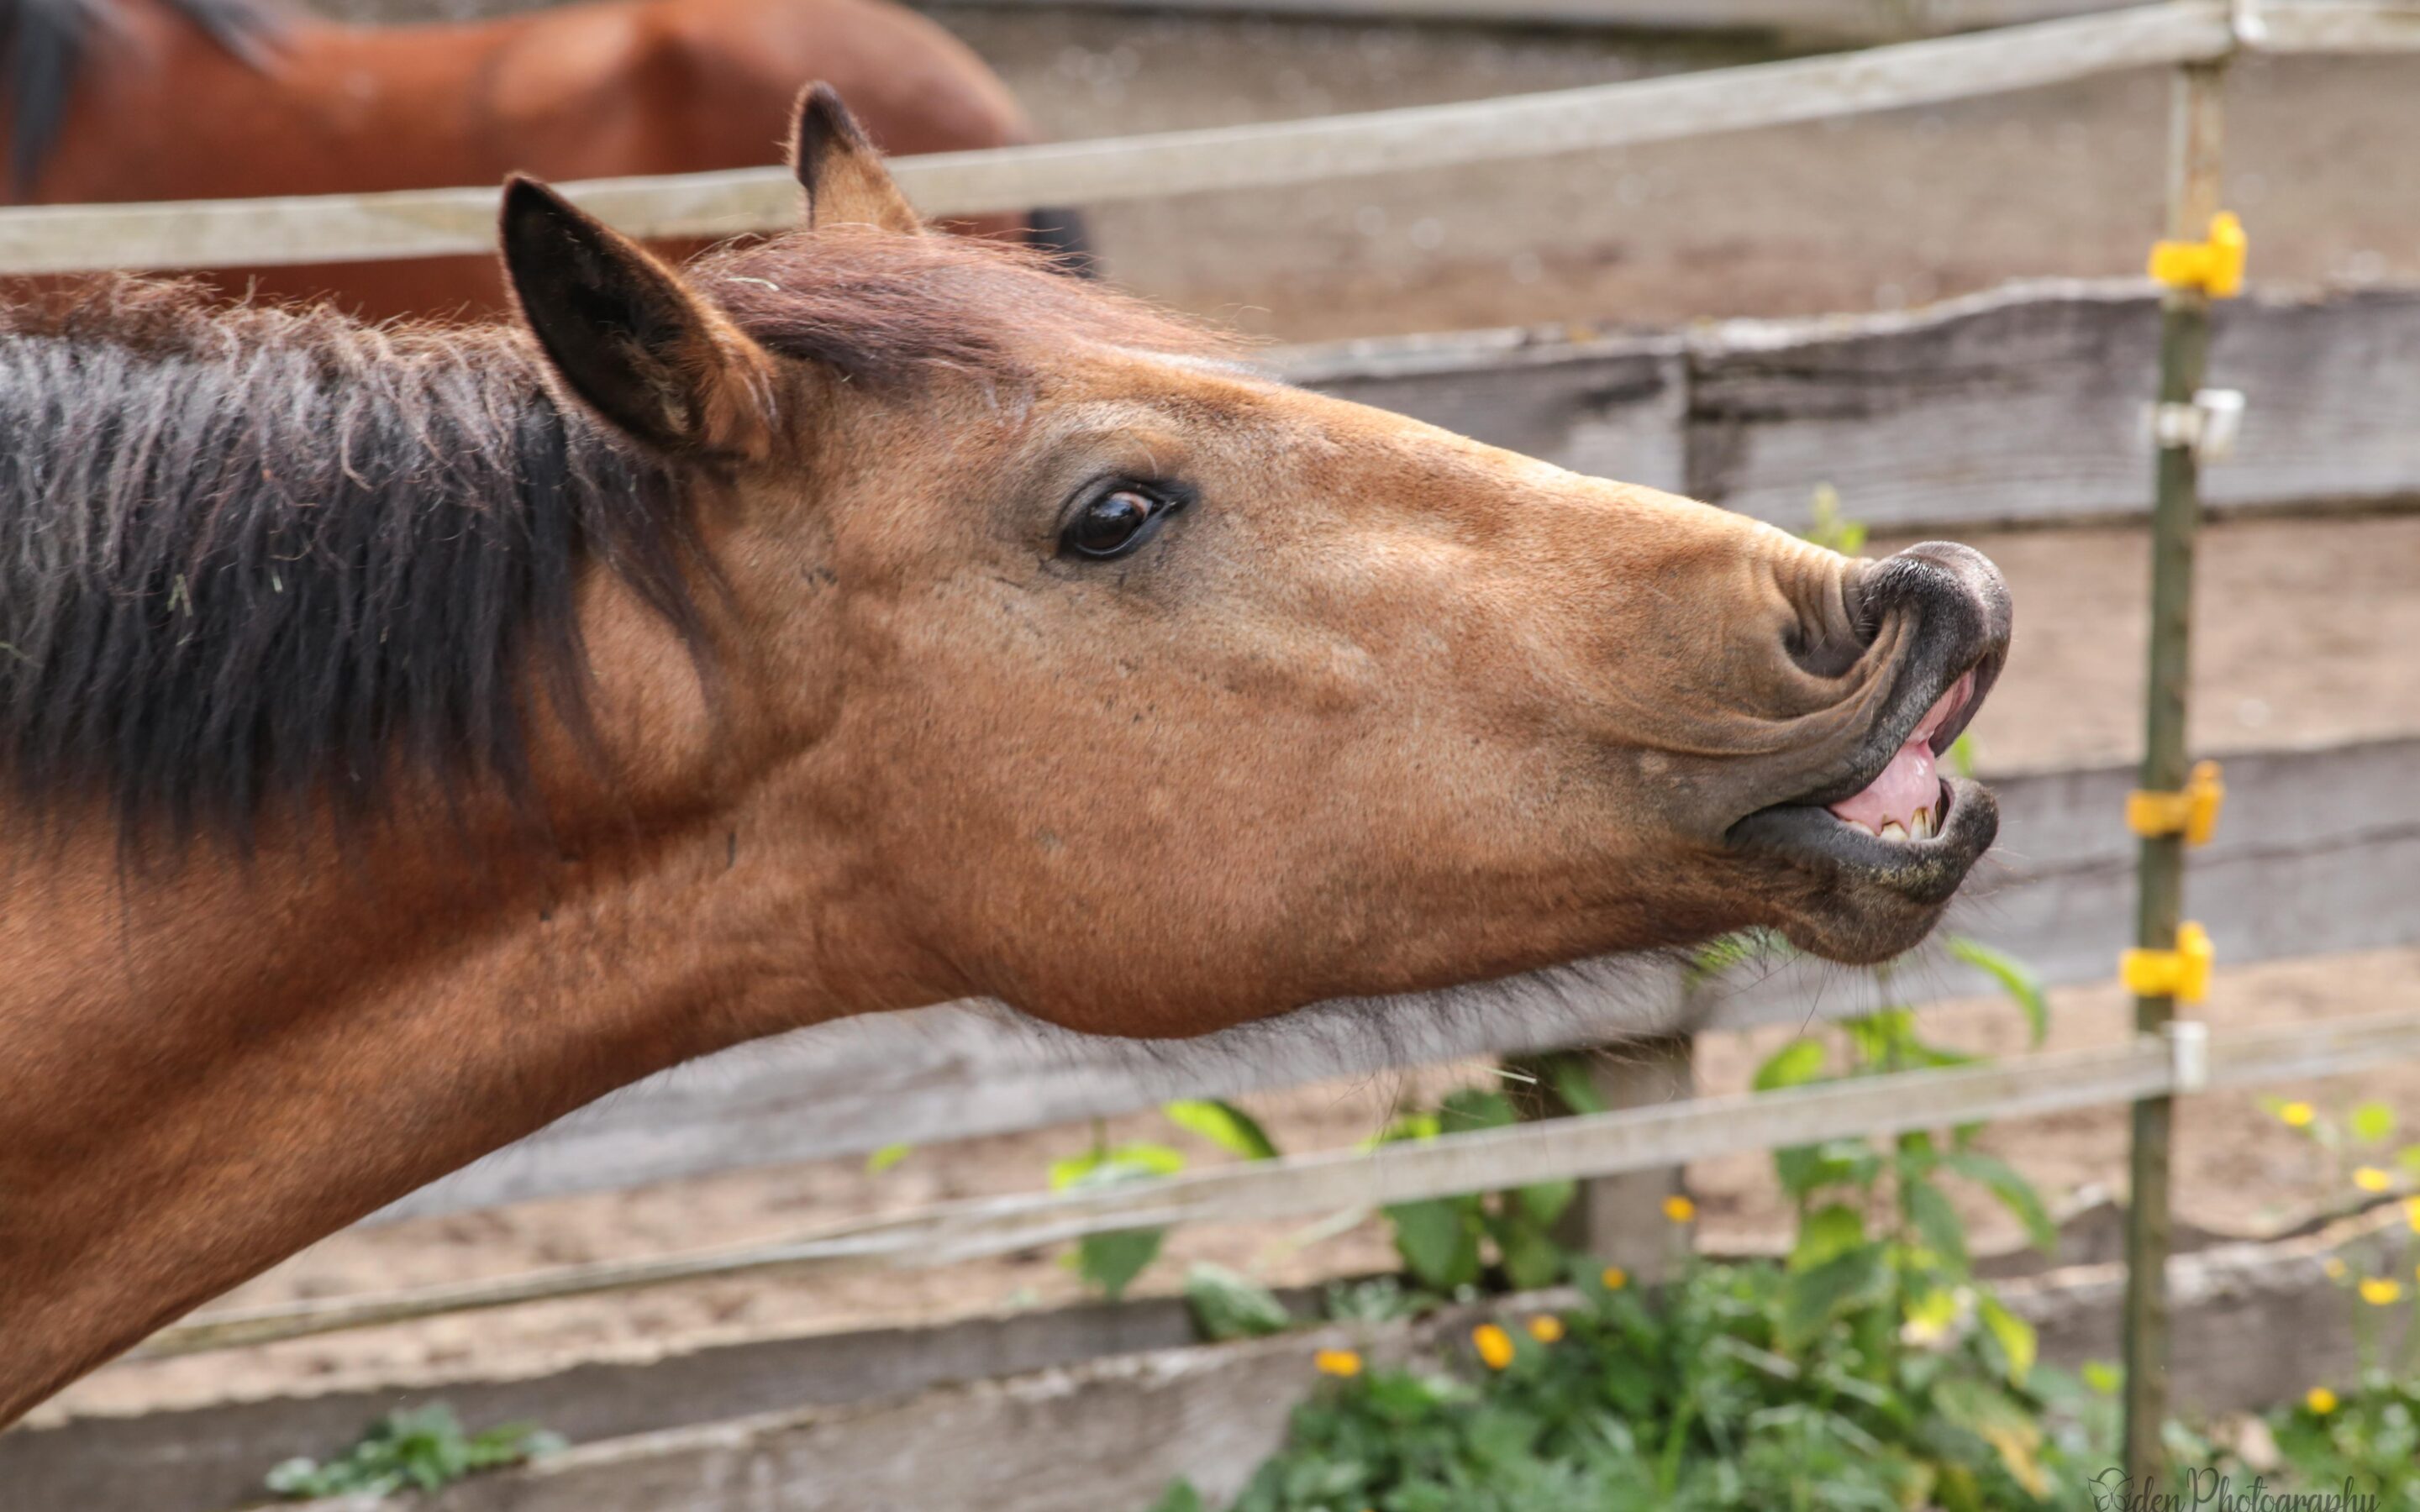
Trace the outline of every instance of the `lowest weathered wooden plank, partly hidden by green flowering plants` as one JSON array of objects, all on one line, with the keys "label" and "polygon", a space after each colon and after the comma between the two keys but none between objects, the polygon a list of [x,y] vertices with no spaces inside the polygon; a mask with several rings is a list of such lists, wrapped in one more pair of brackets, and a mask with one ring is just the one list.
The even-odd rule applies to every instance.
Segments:
[{"label": "lowest weathered wooden plank, partly hidden by green flowering plants", "polygon": [[[2350,1379],[2362,1343],[2323,1265],[2328,1256],[2362,1258],[2374,1246],[2401,1251],[2396,1265],[2403,1265],[2410,1253],[2401,1227],[2401,1212],[2389,1210],[2318,1239],[2171,1260],[2180,1406],[2265,1408],[2301,1386]],[[2050,1272],[2009,1282],[2001,1297],[2040,1328],[2042,1360],[2074,1369],[2110,1355],[2115,1270]],[[1285,1415],[1316,1381],[1312,1350],[1350,1345],[1387,1364],[1435,1367],[1459,1350],[1479,1316],[1517,1318],[1573,1302],[1568,1292],[1539,1292],[1365,1331],[1198,1345],[891,1403],[636,1435],[465,1481],[416,1505],[424,1512],[1133,1512],[1176,1476],[1222,1505],[1283,1442]],[[2381,1347],[2396,1347],[2401,1321],[2384,1318]],[[934,1444],[949,1452],[934,1454]],[[387,1512],[387,1505],[329,1500],[298,1512]]]}]

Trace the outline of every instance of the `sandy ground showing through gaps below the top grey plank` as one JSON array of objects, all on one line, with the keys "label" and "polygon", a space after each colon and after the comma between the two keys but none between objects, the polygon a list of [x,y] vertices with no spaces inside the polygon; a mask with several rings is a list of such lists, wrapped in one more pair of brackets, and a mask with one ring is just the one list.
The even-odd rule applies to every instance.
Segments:
[{"label": "sandy ground showing through gaps below the top grey plank", "polygon": [[[1888,544],[1888,542],[1883,542]],[[2139,699],[2144,547],[2130,530],[2059,530],[1977,537],[2006,569],[2021,605],[2018,646],[1994,702],[1975,726],[1987,769],[2023,769],[2118,757],[2134,748]],[[2205,549],[2197,745],[2241,748],[2335,740],[2415,728],[2420,721],[2420,518],[2333,523],[2238,523],[2209,532]],[[2379,900],[2420,907],[2420,900]],[[2420,951],[2224,973],[2209,1004],[2219,1026],[2299,1023],[2338,1014],[2420,1004]],[[1946,1040],[2021,1050],[2011,1011],[1941,1011]],[[2110,1043],[2127,1009],[2110,987],[2057,994],[2055,1045]],[[1711,1035],[1699,1050],[1709,1091],[1747,1086],[1752,1067],[1788,1031]],[[1307,1086],[1249,1106],[1290,1152],[1350,1144],[1375,1132],[1396,1098],[1483,1079],[1486,1067]],[[2350,1106],[2381,1096],[2420,1125],[2420,1067],[2280,1089]],[[2125,1164],[2122,1108],[2072,1113],[1992,1132],[1989,1144],[2026,1168],[2052,1198],[2118,1185]],[[1113,1120],[1113,1139],[1169,1139],[1198,1161],[1222,1159],[1157,1115]],[[772,1239],[847,1214],[891,1212],[983,1193],[1031,1190],[1055,1156],[1079,1152],[1089,1130],[1043,1130],[922,1149],[886,1173],[857,1161],[743,1171],[649,1190],[566,1198],[513,1210],[416,1219],[339,1234],[227,1299],[259,1304],[336,1292],[416,1287],[542,1265],[673,1253]],[[2301,1139],[2263,1120],[2253,1098],[2195,1101],[2178,1139],[2178,1210],[2212,1229],[2255,1231],[2335,1195]],[[1769,1243],[1788,1227],[1759,1156],[1709,1161],[1692,1171],[1711,1246]],[[2006,1219],[1977,1207],[1984,1234],[2009,1241]],[[1183,1263],[1212,1258],[1273,1282],[1367,1272],[1389,1265],[1384,1231],[1358,1224],[1300,1243],[1307,1224],[1181,1231],[1145,1289],[1174,1287]],[[983,1260],[932,1272],[748,1280],[668,1287],[440,1318],[237,1350],[194,1360],[121,1364],[44,1408],[133,1410],[283,1389],[523,1372],[595,1355],[644,1355],[675,1340],[738,1338],[757,1331],[842,1328],[874,1321],[937,1321],[1014,1304],[1077,1297],[1074,1277],[1048,1253]]]}]

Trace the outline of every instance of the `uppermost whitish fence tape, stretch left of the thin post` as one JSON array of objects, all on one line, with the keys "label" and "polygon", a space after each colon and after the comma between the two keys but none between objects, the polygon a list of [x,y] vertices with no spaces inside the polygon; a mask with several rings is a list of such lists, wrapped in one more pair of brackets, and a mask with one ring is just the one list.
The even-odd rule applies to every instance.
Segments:
[{"label": "uppermost whitish fence tape, stretch left of the thin post", "polygon": [[[900,157],[893,172],[927,215],[1087,206],[1784,126],[2217,58],[2231,46],[2226,5],[2173,0],[2006,27],[1987,36],[1583,90],[990,152],[934,152]],[[564,184],[564,191],[644,237],[731,237],[782,230],[796,215],[796,189],[782,169],[590,179]],[[467,254],[494,247],[494,220],[496,191],[489,186],[34,206],[0,210],[0,273]]]}]

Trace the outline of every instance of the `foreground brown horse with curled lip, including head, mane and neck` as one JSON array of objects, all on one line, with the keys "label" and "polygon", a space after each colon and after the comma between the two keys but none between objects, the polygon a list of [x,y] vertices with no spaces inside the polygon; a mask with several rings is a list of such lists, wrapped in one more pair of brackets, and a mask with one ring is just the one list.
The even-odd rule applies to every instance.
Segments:
[{"label": "foreground brown horse with curled lip, including head, mane and neck", "polygon": [[0,1422],[753,1035],[1873,960],[1989,844],[1972,552],[1292,389],[924,235],[828,92],[796,167],[687,271],[515,181],[535,341],[0,314]]}]

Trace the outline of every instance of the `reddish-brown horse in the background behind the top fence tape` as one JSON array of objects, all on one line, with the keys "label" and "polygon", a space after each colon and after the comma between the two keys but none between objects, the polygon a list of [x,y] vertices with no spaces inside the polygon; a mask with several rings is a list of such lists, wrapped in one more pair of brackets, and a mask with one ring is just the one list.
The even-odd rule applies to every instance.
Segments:
[{"label": "reddish-brown horse in the background behind the top fence tape", "polygon": [[[1033,140],[973,51],[886,0],[603,0],[424,27],[319,22],[276,0],[0,0],[0,203],[755,167],[808,77],[832,80],[893,155]],[[1067,210],[951,230],[1084,254]],[[203,278],[334,295],[373,319],[506,307],[494,256]]]}]

